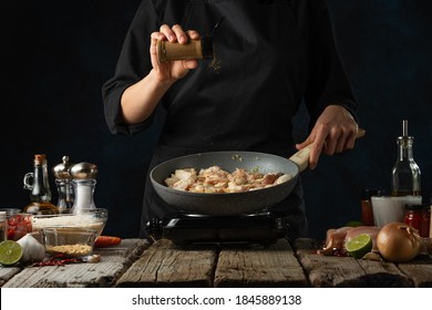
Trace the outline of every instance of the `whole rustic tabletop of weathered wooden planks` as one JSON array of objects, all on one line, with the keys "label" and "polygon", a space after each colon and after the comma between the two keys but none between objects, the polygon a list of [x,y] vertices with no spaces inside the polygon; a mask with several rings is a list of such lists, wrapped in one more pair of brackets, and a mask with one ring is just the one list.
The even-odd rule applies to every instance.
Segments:
[{"label": "whole rustic tabletop of weathered wooden planks", "polygon": [[311,239],[191,245],[125,239],[96,264],[0,267],[2,288],[43,287],[432,287],[432,259],[409,264],[317,255]]}]

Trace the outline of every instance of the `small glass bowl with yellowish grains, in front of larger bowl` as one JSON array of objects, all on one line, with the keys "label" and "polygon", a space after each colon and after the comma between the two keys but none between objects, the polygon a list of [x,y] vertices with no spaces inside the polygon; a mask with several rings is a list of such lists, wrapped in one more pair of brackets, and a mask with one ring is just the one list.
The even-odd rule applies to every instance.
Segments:
[{"label": "small glass bowl with yellowish grains, in front of larger bowl", "polygon": [[42,240],[49,256],[84,257],[93,254],[96,230],[78,227],[42,228]]}]

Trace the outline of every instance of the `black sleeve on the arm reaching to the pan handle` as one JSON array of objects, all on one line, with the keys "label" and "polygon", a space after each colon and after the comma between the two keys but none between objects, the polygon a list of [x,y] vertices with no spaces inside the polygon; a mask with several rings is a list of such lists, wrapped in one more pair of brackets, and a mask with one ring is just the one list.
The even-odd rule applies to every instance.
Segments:
[{"label": "black sleeve on the arm reaching to the pan handle", "polygon": [[357,102],[342,65],[327,3],[311,0],[309,16],[308,86],[305,102],[310,128],[330,104],[346,107],[358,121]]}]

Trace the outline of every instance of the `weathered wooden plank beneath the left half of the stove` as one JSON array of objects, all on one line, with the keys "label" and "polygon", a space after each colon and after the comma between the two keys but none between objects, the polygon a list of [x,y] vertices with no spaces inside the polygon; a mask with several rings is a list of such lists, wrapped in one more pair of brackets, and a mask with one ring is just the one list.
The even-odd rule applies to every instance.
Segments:
[{"label": "weathered wooden plank beneath the left half of the stove", "polygon": [[217,249],[214,245],[178,248],[161,239],[119,279],[119,287],[212,287]]}]

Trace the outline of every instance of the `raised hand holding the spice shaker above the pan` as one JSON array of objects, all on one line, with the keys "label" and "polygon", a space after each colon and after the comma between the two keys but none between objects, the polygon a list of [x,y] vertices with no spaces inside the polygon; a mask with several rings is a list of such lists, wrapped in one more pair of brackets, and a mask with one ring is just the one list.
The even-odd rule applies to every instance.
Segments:
[{"label": "raised hand holding the spice shaker above the pan", "polygon": [[189,70],[198,66],[196,60],[179,60],[167,61],[160,63],[157,58],[157,41],[167,40],[172,43],[178,42],[185,44],[188,40],[198,40],[199,33],[195,30],[185,32],[179,24],[175,24],[172,28],[167,24],[161,25],[160,31],[153,32],[151,35],[150,55],[152,60],[153,70],[156,73],[156,79],[160,82],[174,82],[184,78]]}]

